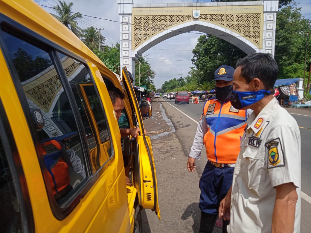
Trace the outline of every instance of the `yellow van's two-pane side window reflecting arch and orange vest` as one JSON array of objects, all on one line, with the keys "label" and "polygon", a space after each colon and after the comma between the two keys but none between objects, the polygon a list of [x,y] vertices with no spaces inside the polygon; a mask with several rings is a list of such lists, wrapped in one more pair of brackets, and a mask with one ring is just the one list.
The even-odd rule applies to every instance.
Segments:
[{"label": "yellow van's two-pane side window reflecting arch and orange vest", "polygon": [[[54,197],[59,207],[66,208],[71,203],[68,200],[74,200],[79,194],[77,190],[92,174],[87,171],[88,161],[96,172],[112,156],[102,104],[81,62],[58,53],[63,66],[63,71],[58,71],[49,46],[33,45],[4,31],[1,36],[7,60],[13,65],[12,74],[16,74],[14,80],[19,80],[23,91],[23,94],[19,92],[21,103],[28,105],[24,111],[29,111],[27,115],[31,116],[30,110],[39,109],[44,118],[44,127],[31,131],[38,140],[35,147],[42,161],[48,196]],[[63,74],[67,76],[63,79],[65,85],[59,76]],[[72,95],[66,91],[68,85],[73,98],[68,97]],[[84,135],[78,128],[81,121]],[[101,155],[101,151],[105,153]]]}]

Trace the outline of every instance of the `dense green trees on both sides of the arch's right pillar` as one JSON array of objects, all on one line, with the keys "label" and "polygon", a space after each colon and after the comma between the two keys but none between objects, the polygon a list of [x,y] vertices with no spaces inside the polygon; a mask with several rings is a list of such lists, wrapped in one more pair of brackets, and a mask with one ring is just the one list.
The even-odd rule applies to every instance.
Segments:
[{"label": "dense green trees on both sides of the arch's right pillar", "polygon": [[[234,0],[231,0],[232,2]],[[212,0],[212,2],[224,2]],[[275,59],[279,66],[279,78],[303,77],[306,34],[311,32],[311,21],[301,15],[301,8],[293,0],[279,1],[276,16]],[[310,48],[307,61],[310,60]],[[235,66],[246,54],[239,48],[215,36],[202,35],[193,49],[190,75],[192,80],[203,84],[213,79],[214,71],[222,64]],[[307,66],[309,62],[307,62]],[[308,71],[308,70],[307,70]],[[306,77],[309,72],[306,72]],[[305,82],[306,83],[306,82]]]}]

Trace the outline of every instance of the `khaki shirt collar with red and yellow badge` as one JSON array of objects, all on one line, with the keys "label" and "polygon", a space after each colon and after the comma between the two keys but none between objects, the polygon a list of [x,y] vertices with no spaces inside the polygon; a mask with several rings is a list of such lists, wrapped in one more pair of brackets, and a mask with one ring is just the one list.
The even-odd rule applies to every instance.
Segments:
[{"label": "khaki shirt collar with red and yellow badge", "polygon": [[267,119],[272,115],[278,105],[279,103],[276,98],[273,98],[264,108],[262,108],[257,116],[256,113],[253,112],[246,121],[247,130],[252,129],[255,134],[258,133],[258,131],[262,128],[262,126],[264,126]]}]

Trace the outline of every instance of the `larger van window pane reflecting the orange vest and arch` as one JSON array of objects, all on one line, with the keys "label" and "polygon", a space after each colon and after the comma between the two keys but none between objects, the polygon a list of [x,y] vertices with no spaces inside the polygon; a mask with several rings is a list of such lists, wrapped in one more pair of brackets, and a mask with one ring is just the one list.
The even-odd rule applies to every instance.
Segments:
[{"label": "larger van window pane reflecting the orange vest and arch", "polygon": [[43,115],[43,129],[33,130],[39,140],[36,149],[44,160],[47,190],[62,206],[87,174],[72,106],[49,53],[8,33],[2,35],[29,109],[38,108]]}]

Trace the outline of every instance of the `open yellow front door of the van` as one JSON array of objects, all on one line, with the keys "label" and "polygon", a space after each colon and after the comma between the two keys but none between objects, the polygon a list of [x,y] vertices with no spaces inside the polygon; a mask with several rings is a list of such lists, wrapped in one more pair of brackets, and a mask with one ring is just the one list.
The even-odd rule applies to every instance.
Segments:
[{"label": "open yellow front door of the van", "polygon": [[122,77],[124,91],[132,108],[133,115],[131,117],[133,120],[135,119],[137,126],[140,127],[140,135],[136,139],[131,139],[133,185],[137,189],[139,204],[143,208],[155,211],[160,219],[156,168],[153,160],[151,141],[145,134],[142,115],[126,67],[122,69]]}]

